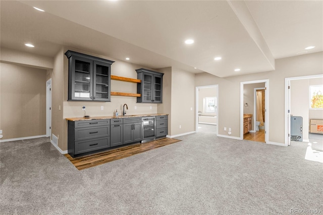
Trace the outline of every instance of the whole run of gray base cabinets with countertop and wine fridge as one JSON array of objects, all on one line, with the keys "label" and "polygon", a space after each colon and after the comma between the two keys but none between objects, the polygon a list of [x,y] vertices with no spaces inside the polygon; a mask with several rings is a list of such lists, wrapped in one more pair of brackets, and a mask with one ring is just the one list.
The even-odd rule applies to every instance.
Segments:
[{"label": "whole run of gray base cabinets with countertop and wine fridge", "polygon": [[168,134],[167,114],[67,118],[66,120],[68,121],[68,153],[72,157],[165,138]]}]

